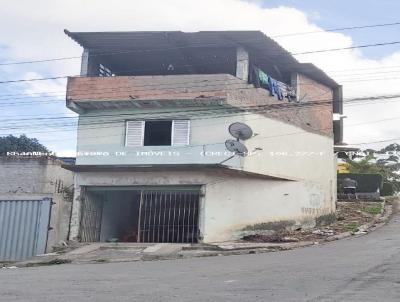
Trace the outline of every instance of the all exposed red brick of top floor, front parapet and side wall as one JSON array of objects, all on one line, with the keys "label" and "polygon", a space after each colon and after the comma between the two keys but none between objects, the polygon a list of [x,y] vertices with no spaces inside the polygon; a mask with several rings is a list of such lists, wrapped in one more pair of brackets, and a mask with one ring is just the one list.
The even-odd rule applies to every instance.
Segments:
[{"label": "all exposed red brick of top floor, front parapet and side wall", "polygon": [[[295,86],[295,85],[293,85]],[[254,88],[231,75],[77,77],[68,79],[67,100],[173,100],[217,97],[233,106],[261,106],[254,112],[333,136],[332,89],[297,76],[299,102],[279,101],[263,88]],[[321,104],[321,102],[323,102]],[[273,105],[275,107],[264,107]],[[265,109],[267,108],[267,109]]]}]

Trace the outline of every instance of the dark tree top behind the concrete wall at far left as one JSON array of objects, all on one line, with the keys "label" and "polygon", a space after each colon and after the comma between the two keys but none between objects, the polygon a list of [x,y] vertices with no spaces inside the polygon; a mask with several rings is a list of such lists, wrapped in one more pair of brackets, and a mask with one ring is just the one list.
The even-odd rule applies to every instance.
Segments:
[{"label": "dark tree top behind the concrete wall at far left", "polygon": [[25,134],[19,137],[14,135],[0,137],[0,155],[7,155],[7,152],[50,153],[36,138],[29,138]]}]

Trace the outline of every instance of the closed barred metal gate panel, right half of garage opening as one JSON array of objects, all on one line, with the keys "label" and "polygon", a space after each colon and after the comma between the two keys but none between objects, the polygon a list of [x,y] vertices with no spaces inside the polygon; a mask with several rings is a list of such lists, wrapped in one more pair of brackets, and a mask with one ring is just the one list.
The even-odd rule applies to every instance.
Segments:
[{"label": "closed barred metal gate panel, right half of garage opening", "polygon": [[199,198],[199,191],[143,190],[139,241],[197,242]]}]

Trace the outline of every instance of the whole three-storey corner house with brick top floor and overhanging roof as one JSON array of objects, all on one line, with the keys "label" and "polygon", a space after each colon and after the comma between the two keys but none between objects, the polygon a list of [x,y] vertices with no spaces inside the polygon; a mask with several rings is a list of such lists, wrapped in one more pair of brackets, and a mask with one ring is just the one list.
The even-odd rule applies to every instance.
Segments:
[{"label": "whole three-storey corner house with brick top floor and overhanging roof", "polygon": [[[71,239],[215,242],[334,213],[342,91],[323,71],[259,31],[65,32],[84,48]],[[225,144],[237,122],[246,154]]]}]

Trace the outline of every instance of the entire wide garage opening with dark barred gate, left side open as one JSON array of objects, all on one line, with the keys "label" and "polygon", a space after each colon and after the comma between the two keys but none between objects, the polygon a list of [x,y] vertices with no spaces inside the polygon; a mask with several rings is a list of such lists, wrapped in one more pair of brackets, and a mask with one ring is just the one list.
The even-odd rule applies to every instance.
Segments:
[{"label": "entire wide garage opening with dark barred gate, left side open", "polygon": [[83,242],[196,243],[200,187],[86,187]]}]

